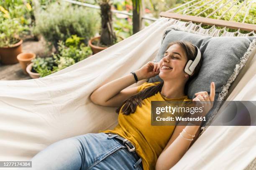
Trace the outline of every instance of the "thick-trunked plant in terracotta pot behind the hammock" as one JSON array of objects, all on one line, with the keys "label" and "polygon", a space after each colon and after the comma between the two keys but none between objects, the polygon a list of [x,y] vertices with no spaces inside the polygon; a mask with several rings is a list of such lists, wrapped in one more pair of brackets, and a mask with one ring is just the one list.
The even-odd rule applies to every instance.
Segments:
[{"label": "thick-trunked plant in terracotta pot behind the hammock", "polygon": [[93,54],[105,50],[109,46],[118,42],[118,39],[123,39],[122,37],[117,37],[113,30],[110,0],[95,1],[100,5],[101,31],[100,36],[93,37],[88,42],[92,48]]}]

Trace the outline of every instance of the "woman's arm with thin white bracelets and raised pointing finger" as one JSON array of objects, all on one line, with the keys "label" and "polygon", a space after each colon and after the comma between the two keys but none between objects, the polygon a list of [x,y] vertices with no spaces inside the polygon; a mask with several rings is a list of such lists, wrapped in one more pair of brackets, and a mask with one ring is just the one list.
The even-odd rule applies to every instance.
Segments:
[{"label": "woman's arm with thin white bracelets and raised pointing finger", "polygon": [[[213,102],[210,101],[214,101],[215,97],[214,83],[212,82],[210,85],[210,97],[208,96],[207,92],[198,92],[195,95],[196,97],[193,99],[193,101],[202,101],[202,104],[205,106],[204,111],[206,114],[213,105]],[[193,139],[192,136],[195,135],[193,140],[196,140],[199,133],[200,126],[176,126],[172,137],[157,159],[156,170],[169,170],[172,168],[187,152],[189,146],[191,145],[192,140],[187,139]]]}]

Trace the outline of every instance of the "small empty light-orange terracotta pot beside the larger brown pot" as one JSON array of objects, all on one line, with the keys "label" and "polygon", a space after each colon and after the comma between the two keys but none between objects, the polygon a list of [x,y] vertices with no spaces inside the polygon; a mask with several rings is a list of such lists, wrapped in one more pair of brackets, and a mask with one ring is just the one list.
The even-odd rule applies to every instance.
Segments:
[{"label": "small empty light-orange terracotta pot beside the larger brown pot", "polygon": [[28,74],[26,68],[31,63],[31,60],[33,60],[35,57],[36,54],[32,52],[22,52],[17,56],[17,59],[20,62],[20,67],[22,68],[24,74]]}]

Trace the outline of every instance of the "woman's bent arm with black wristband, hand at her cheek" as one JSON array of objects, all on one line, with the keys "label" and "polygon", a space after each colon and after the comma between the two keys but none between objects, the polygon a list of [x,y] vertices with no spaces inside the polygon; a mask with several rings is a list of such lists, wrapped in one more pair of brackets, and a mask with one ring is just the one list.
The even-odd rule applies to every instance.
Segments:
[{"label": "woman's bent arm with black wristband, hand at her cheek", "polygon": [[[135,73],[138,81],[153,77],[159,74],[159,65],[148,62],[139,70],[136,70]],[[96,89],[92,92],[90,99],[98,105],[119,107],[125,100],[137,93],[138,87],[125,89],[135,82],[133,74],[118,78]]]}]

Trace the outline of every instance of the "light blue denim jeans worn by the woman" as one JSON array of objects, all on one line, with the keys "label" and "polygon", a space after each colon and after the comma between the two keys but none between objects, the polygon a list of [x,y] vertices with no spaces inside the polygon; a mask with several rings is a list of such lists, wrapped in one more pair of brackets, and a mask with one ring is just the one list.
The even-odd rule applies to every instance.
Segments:
[{"label": "light blue denim jeans worn by the woman", "polygon": [[32,170],[142,170],[141,158],[113,137],[87,133],[60,140],[32,158]]}]

